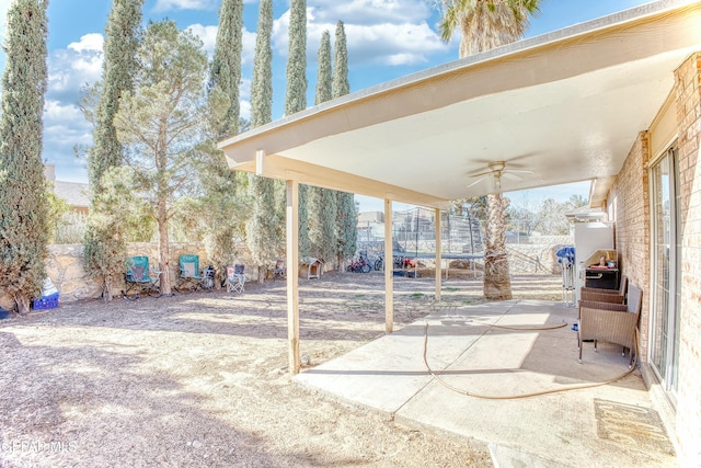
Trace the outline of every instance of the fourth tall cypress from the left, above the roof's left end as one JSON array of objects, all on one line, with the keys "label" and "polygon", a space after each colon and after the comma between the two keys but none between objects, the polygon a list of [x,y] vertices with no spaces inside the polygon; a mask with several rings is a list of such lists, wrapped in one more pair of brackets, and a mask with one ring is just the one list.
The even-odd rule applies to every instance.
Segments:
[{"label": "fourth tall cypress from the left, above the roof's left end", "polygon": [[[251,127],[255,128],[273,119],[273,0],[261,0],[255,36],[255,58],[251,83]],[[258,267],[258,282],[265,277],[269,263],[284,249],[280,224],[285,217],[278,209],[277,181],[249,174],[249,193],[253,201],[251,218],[246,224],[246,243],[253,262]]]}]

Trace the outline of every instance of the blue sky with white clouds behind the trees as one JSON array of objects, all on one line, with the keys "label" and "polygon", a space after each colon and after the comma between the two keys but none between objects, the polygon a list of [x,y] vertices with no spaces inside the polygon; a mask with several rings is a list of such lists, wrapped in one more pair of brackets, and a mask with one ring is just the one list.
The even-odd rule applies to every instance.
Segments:
[{"label": "blue sky with white clouds behind the trees", "polygon": [[[543,0],[541,14],[531,21],[527,37],[560,30],[650,0]],[[4,41],[5,16],[11,0],[0,0],[0,39]],[[218,0],[147,0],[145,21],[174,20],[180,27],[199,35],[211,54],[217,33]],[[77,102],[84,84],[102,72],[104,27],[110,0],[53,0],[48,7],[49,89],[44,116],[44,159],[56,164],[57,179],[85,182],[85,161],[73,153],[76,145],[90,145],[92,129]],[[257,0],[244,0],[242,115],[249,115]],[[274,118],[283,116],[289,0],[274,0]],[[411,72],[445,64],[458,57],[458,37],[444,44],[436,32],[438,12],[425,0],[307,0],[308,103],[313,103],[317,50],[324,30],[333,32],[338,20],[346,28],[350,90],[379,84]],[[0,69],[4,69],[0,50]],[[536,201],[567,198],[588,193],[588,183],[564,189],[528,191]],[[520,197],[522,195],[519,194]],[[381,209],[381,202],[363,198],[364,209]]]}]

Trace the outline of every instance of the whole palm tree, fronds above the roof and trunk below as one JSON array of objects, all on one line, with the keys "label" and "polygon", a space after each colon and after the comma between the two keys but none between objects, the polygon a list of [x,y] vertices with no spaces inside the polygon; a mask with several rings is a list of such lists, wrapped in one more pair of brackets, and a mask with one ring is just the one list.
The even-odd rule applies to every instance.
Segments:
[{"label": "whole palm tree, fronds above the roof and trunk below", "polygon": [[[450,41],[460,26],[460,58],[520,39],[529,16],[539,12],[539,0],[433,0],[443,9],[438,25],[441,38]],[[484,250],[484,297],[512,298],[506,253],[506,208],[501,193],[487,195]]]}]

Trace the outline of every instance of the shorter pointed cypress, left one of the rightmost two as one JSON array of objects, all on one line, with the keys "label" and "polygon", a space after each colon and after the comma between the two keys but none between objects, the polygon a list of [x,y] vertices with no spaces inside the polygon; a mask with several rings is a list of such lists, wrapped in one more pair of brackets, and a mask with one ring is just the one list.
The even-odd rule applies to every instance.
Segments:
[{"label": "shorter pointed cypress, left one of the rightmost two", "polygon": [[[315,103],[331,100],[331,36],[329,31],[321,35],[319,47],[319,71],[317,75]],[[336,192],[321,187],[309,187],[309,239],[312,255],[325,262],[336,258]]]}]

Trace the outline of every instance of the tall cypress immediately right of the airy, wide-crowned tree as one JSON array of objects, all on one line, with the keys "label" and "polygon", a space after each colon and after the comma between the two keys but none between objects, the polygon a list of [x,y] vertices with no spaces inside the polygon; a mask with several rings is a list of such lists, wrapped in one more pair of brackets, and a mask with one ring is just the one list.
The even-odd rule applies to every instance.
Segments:
[{"label": "tall cypress immediately right of the airy, wide-crowned tree", "polygon": [[[212,137],[217,141],[239,133],[242,35],[242,0],[223,0],[219,8],[219,28],[207,87],[211,106],[217,106],[217,100],[221,100],[225,106],[223,117],[211,123]],[[200,180],[206,193],[203,203],[209,213],[204,222],[205,249],[217,272],[217,287],[221,284],[226,266],[235,260],[238,233],[243,231],[248,213],[244,209],[248,203],[239,189],[240,178],[229,168],[223,153],[212,148]]]}]

